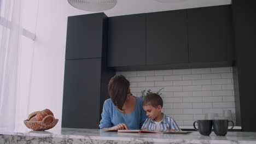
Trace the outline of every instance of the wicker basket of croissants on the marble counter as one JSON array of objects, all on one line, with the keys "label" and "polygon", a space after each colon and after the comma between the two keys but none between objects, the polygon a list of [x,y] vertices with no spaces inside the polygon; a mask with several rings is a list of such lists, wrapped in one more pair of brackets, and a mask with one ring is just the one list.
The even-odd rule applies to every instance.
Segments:
[{"label": "wicker basket of croissants on the marble counter", "polygon": [[24,121],[27,128],[32,130],[47,130],[53,128],[59,119],[54,118],[53,112],[49,109],[42,111],[35,111],[28,115],[28,118]]}]

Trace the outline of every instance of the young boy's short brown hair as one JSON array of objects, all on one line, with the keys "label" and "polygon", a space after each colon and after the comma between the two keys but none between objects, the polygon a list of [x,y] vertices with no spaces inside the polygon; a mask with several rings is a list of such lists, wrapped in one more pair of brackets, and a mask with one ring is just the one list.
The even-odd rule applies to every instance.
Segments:
[{"label": "young boy's short brown hair", "polygon": [[162,107],[162,98],[156,93],[149,93],[144,98],[142,105],[152,105],[154,107],[158,107],[160,105]]}]

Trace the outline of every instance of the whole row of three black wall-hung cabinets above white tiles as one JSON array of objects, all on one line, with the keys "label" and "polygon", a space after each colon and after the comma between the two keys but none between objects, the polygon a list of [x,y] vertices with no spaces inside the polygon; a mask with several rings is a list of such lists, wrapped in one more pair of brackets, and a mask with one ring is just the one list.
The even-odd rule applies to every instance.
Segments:
[{"label": "whole row of three black wall-hung cabinets above white tiles", "polygon": [[231,66],[232,39],[230,5],[109,17],[108,66],[119,70]]}]

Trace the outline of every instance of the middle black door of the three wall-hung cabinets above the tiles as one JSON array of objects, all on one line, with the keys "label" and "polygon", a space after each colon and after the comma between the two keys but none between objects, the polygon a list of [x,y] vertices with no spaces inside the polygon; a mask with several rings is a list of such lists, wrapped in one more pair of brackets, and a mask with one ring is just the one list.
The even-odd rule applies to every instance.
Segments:
[{"label": "middle black door of the three wall-hung cabinets above the tiles", "polygon": [[147,65],[188,63],[186,10],[147,14]]}]

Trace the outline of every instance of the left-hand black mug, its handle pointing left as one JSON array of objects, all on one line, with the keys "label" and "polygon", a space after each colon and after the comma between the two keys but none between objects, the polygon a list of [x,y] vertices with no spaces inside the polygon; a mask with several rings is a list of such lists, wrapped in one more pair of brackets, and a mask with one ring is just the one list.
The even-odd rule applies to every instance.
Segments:
[{"label": "left-hand black mug, its handle pointing left", "polygon": [[[197,123],[198,129],[195,127],[195,123]],[[212,120],[197,120],[193,125],[201,135],[210,135],[212,133]]]}]

